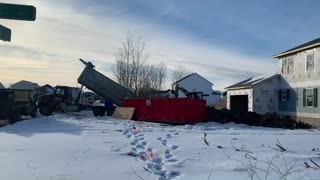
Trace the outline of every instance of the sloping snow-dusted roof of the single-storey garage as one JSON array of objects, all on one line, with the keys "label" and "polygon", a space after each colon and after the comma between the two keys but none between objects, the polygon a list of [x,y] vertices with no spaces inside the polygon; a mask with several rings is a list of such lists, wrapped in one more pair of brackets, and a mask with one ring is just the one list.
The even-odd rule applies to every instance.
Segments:
[{"label": "sloping snow-dusted roof of the single-storey garage", "polygon": [[278,74],[274,74],[271,76],[268,75],[261,75],[256,77],[248,78],[244,81],[238,82],[236,84],[233,84],[231,86],[226,87],[225,89],[244,89],[244,88],[252,88],[254,85],[257,85],[261,82],[264,82],[266,80],[272,79],[274,77],[278,77]]}]

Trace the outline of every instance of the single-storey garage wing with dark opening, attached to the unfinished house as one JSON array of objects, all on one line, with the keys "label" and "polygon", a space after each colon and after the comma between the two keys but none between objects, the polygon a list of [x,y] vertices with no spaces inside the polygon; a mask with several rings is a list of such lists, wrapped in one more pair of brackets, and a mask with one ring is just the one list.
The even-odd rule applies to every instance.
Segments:
[{"label": "single-storey garage wing with dark opening, attached to the unfinished house", "polygon": [[278,112],[279,75],[258,76],[229,86],[227,108],[238,112]]}]

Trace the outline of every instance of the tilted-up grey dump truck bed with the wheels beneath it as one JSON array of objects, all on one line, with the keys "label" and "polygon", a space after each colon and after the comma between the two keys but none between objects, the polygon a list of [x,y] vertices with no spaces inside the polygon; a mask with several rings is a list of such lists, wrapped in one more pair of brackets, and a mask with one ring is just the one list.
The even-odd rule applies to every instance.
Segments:
[{"label": "tilted-up grey dump truck bed with the wheels beneath it", "polygon": [[106,102],[100,102],[99,105],[92,108],[95,116],[103,116],[106,111],[108,115],[112,114],[108,111],[113,111],[114,106],[111,106],[108,101],[122,106],[124,99],[134,97],[129,89],[96,71],[91,62],[79,60],[85,65],[85,68],[78,78],[78,83],[106,99]]}]

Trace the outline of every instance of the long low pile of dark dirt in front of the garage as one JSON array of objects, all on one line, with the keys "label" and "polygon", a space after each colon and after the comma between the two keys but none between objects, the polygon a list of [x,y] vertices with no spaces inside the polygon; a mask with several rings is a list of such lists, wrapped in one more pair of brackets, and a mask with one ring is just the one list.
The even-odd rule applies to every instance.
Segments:
[{"label": "long low pile of dark dirt in front of the garage", "polygon": [[277,113],[267,113],[260,115],[254,112],[233,112],[228,109],[217,110],[213,107],[207,109],[208,121],[219,123],[237,123],[247,124],[250,126],[262,126],[284,129],[310,129],[312,126],[309,124],[295,121],[289,117],[280,116]]}]

